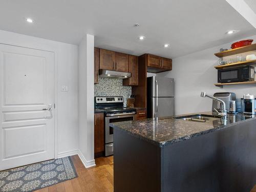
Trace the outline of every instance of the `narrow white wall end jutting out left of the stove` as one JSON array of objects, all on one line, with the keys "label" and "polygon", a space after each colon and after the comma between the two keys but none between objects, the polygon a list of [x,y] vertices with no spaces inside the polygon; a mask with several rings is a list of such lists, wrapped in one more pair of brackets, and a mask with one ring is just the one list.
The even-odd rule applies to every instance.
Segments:
[{"label": "narrow white wall end jutting out left of the stove", "polygon": [[87,34],[78,46],[79,150],[84,166],[94,160],[94,36]]}]

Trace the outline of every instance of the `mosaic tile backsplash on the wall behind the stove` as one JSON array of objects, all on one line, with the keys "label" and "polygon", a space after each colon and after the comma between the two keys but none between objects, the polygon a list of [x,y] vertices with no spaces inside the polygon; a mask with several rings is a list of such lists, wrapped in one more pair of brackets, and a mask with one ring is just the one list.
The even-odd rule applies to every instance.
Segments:
[{"label": "mosaic tile backsplash on the wall behind the stove", "polygon": [[123,86],[122,79],[99,78],[99,83],[94,84],[94,96],[123,96],[126,106],[127,98],[132,94],[131,86]]}]

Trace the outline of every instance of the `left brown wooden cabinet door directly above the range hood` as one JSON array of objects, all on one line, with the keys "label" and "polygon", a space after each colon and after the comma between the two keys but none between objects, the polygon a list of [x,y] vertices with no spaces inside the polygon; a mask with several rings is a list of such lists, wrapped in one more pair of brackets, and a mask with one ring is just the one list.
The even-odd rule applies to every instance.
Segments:
[{"label": "left brown wooden cabinet door directly above the range hood", "polygon": [[99,69],[115,70],[115,52],[105,49],[99,50]]}]

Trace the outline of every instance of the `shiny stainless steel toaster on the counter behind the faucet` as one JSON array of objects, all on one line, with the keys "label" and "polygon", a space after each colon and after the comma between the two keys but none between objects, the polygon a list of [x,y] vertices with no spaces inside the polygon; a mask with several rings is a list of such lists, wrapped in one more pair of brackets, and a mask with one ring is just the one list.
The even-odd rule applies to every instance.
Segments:
[{"label": "shiny stainless steel toaster on the counter behind the faucet", "polygon": [[[237,113],[237,98],[236,94],[229,92],[215,93],[214,97],[221,99],[226,104],[227,113]],[[220,101],[212,100],[212,111],[215,109],[219,112],[222,111],[223,106]]]}]

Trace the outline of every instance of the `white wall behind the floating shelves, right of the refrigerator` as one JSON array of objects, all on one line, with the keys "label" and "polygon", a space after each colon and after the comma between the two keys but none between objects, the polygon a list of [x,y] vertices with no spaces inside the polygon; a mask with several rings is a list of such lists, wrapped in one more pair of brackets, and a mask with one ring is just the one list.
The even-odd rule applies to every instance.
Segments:
[{"label": "white wall behind the floating shelves, right of the refrigerator", "polygon": [[[256,41],[256,35],[244,39]],[[216,92],[234,92],[237,98],[242,98],[246,93],[256,94],[255,84],[224,86],[223,89],[214,86],[218,81],[217,70],[214,68],[218,65],[218,57],[214,53],[219,52],[220,48],[230,49],[231,43],[175,58],[172,71],[157,74],[175,78],[176,115],[210,111],[212,101],[200,97],[201,91],[211,95]]]}]

